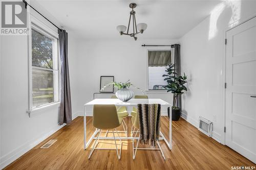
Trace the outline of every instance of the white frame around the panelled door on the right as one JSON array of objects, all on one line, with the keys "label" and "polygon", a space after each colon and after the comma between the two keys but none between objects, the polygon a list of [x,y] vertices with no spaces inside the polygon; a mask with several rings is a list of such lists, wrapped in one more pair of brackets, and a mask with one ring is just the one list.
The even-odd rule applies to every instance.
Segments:
[{"label": "white frame around the panelled door on the right", "polygon": [[[223,31],[223,65],[222,65],[222,75],[223,75],[223,82],[222,82],[222,131],[221,131],[221,143],[226,145],[226,132],[224,132],[224,128],[226,127],[226,88],[225,88],[225,83],[226,83],[226,44],[225,44],[225,39],[227,38],[227,32],[242,25],[243,23],[247,22],[248,20],[251,20],[252,18],[256,17],[256,13],[254,13],[252,16],[250,17],[245,17],[245,18],[241,18],[240,22],[238,23],[238,25],[234,26],[234,27],[226,27],[226,29]],[[232,24],[232,23],[231,23]],[[230,25],[229,25],[230,26]],[[228,42],[227,42],[228,43]]]}]

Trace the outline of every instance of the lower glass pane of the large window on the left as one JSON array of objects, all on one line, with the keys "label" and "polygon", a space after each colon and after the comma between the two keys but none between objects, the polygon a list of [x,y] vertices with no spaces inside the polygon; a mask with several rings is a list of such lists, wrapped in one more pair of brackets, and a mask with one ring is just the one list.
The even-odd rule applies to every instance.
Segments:
[{"label": "lower glass pane of the large window on the left", "polygon": [[54,102],[53,71],[32,70],[33,107]]}]

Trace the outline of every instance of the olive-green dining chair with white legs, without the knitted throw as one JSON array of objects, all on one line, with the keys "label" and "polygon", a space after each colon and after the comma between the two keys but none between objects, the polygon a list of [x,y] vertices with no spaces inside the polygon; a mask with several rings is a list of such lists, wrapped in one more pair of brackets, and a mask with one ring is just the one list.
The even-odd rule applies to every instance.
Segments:
[{"label": "olive-green dining chair with white legs, without the knitted throw", "polygon": [[116,130],[117,127],[119,127],[122,123],[123,118],[118,117],[116,106],[115,105],[94,105],[93,106],[93,126],[98,129],[98,135],[96,137],[96,140],[93,144],[93,148],[90,152],[90,155],[88,159],[91,158],[92,153],[95,149],[98,150],[108,150],[108,148],[96,148],[99,140],[99,136],[101,134],[102,130],[111,130],[114,136],[115,144],[116,144],[116,138],[114,130],[116,131],[119,140],[120,140],[120,152],[118,153],[117,144],[116,144],[116,153],[118,159],[121,158],[121,150],[122,150],[122,140]]}]

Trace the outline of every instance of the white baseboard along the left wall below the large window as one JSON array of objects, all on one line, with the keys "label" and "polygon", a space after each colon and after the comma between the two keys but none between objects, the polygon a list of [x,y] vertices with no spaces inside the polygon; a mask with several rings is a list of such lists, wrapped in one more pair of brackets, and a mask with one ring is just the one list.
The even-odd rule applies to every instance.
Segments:
[{"label": "white baseboard along the left wall below the large window", "polygon": [[42,133],[37,138],[29,140],[28,142],[21,145],[19,148],[17,148],[15,150],[13,150],[12,152],[2,156],[0,158],[0,169],[3,169],[4,167],[9,165],[13,161],[18,159],[20,156],[24,155],[26,152],[28,152],[29,150],[34,148],[37,144],[44,141],[46,138],[51,136],[53,133],[55,133],[56,131],[58,131],[59,129],[61,129],[65,125],[66,124],[63,124],[61,126],[57,125],[57,126],[53,127],[49,132]]}]

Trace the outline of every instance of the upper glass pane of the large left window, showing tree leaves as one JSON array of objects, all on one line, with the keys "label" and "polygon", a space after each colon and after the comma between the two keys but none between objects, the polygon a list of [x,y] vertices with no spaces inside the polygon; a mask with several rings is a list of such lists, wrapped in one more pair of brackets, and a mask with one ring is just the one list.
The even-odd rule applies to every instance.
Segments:
[{"label": "upper glass pane of the large left window, showing tree leaves", "polygon": [[53,69],[53,40],[32,29],[32,65]]}]

